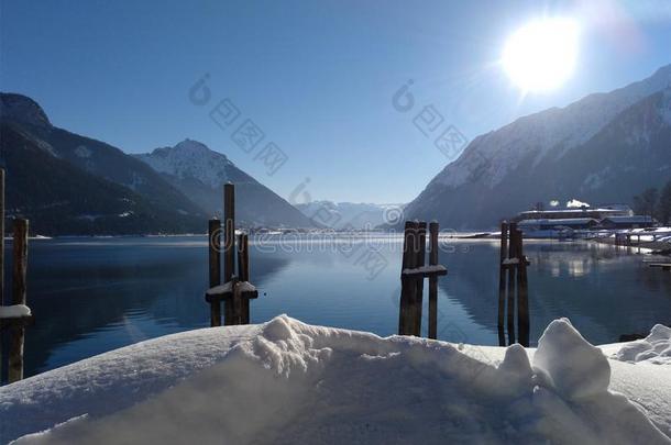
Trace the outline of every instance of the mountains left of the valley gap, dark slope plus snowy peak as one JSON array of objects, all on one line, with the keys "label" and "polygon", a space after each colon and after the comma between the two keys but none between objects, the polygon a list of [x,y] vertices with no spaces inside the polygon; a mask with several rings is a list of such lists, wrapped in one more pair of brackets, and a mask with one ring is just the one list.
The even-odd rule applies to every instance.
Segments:
[{"label": "mountains left of the valley gap, dark slope plus snowy peak", "polygon": [[239,185],[241,224],[314,226],[226,156],[193,141],[131,156],[52,125],[34,100],[13,93],[0,93],[0,135],[7,215],[29,218],[34,233],[204,233],[229,180]]}]

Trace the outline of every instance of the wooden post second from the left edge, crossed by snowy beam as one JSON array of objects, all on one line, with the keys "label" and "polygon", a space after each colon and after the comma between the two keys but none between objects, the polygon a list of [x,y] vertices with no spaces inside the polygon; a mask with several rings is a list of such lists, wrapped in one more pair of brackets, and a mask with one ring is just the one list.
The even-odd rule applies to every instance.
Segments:
[{"label": "wooden post second from the left edge, crossed by snowy beam", "polygon": [[[28,220],[14,220],[12,304],[25,304],[25,274],[28,270]],[[10,383],[23,378],[23,324],[10,329],[9,371]]]}]

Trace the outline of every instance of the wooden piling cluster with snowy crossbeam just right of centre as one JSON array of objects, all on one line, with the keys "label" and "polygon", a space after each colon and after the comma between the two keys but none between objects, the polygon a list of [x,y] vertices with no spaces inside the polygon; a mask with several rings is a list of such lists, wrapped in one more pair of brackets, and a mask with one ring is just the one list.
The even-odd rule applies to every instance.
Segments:
[{"label": "wooden piling cluster with snowy crossbeam just right of centre", "polygon": [[429,338],[438,333],[438,277],[448,274],[438,264],[438,223],[429,224],[429,265],[425,265],[427,251],[427,223],[406,221],[400,271],[399,335],[421,335],[424,279],[429,278]]}]

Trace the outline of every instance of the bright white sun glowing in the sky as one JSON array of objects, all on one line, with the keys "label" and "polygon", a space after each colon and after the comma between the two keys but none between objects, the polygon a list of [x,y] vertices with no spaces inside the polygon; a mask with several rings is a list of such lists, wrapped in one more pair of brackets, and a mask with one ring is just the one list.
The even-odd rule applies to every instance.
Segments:
[{"label": "bright white sun glowing in the sky", "polygon": [[560,87],[575,68],[578,23],[570,19],[542,19],[517,30],[503,53],[503,66],[524,91]]}]

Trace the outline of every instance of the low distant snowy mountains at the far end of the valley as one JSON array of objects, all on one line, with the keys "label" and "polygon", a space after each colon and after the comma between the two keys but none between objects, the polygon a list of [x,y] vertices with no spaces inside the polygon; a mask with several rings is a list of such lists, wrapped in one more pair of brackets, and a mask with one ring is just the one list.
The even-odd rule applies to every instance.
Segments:
[{"label": "low distant snowy mountains at the far end of the valley", "polygon": [[404,204],[311,201],[296,204],[306,216],[332,229],[371,230],[400,220]]}]

